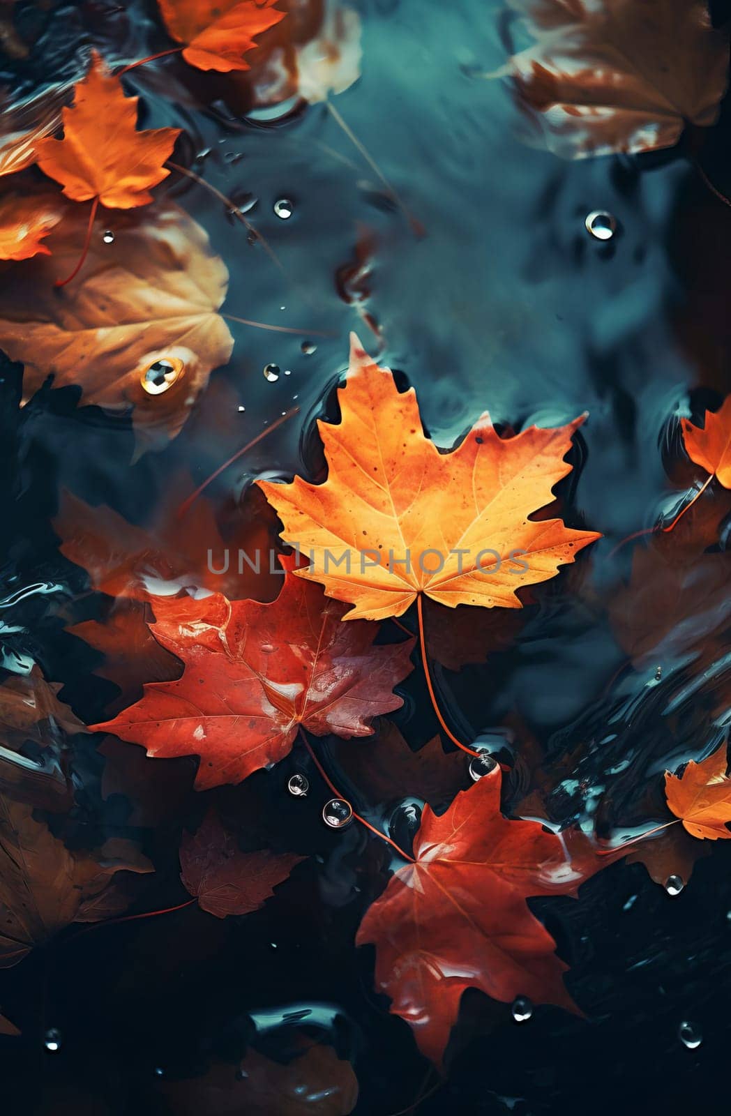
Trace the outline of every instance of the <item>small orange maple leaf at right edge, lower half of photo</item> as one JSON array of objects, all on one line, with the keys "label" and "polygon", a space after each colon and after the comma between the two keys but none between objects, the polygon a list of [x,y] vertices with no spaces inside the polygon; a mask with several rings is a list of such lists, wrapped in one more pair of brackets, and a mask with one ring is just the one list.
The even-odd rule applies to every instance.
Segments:
[{"label": "small orange maple leaf at right edge, lower half of photo", "polygon": [[691,760],[679,778],[665,772],[665,797],[676,818],[693,837],[728,839],[731,830],[731,779],[727,776],[725,743],[696,763]]}]

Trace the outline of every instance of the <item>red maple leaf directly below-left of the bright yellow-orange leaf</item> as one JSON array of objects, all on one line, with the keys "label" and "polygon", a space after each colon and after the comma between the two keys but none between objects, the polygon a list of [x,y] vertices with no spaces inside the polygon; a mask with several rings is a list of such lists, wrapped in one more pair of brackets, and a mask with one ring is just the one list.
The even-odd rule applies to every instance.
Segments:
[{"label": "red maple leaf directly below-left of the bright yellow-orange leaf", "polygon": [[276,600],[156,598],[152,632],[183,660],[175,682],[92,727],[144,744],[148,756],[198,754],[196,789],[241,782],[291,750],[299,727],[316,735],[372,735],[369,720],[403,704],[413,639],[373,646],[377,628],[340,624],[344,609],[291,574]]}]

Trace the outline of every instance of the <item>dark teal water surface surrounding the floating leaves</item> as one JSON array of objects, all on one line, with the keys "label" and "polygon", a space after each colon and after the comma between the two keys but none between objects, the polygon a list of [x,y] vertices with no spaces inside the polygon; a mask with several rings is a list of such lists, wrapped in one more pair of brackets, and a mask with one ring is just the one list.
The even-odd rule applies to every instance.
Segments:
[{"label": "dark teal water surface surrounding the floating leaves", "polygon": [[[596,818],[615,838],[648,828],[665,819],[662,797],[648,795],[648,785],[723,740],[724,623],[714,598],[710,610],[699,608],[685,622],[685,635],[653,642],[650,620],[671,616],[679,603],[661,591],[648,606],[646,654],[633,668],[610,615],[633,548],[612,551],[671,516],[698,477],[683,458],[679,419],[700,422],[729,389],[731,212],[704,187],[684,148],[568,164],[527,145],[506,86],[482,76],[504,61],[499,3],[352,7],[363,19],[363,75],[335,104],[424,234],[415,234],[325,105],[267,122],[235,115],[222,102],[204,105],[204,78],[177,59],[128,75],[128,89],[143,98],[145,127],[183,127],[189,166],[239,203],[257,199],[247,218],[281,270],[206,191],[169,180],[229,269],[224,310],[301,334],[231,324],[232,358],[212,375],[181,435],[134,465],[128,422],[78,408],[77,393],[66,388],[41,393],[18,423],[12,377],[6,378],[0,454],[19,499],[3,481],[8,558],[0,596],[46,589],[0,603],[3,664],[19,671],[38,662],[48,679],[65,683],[62,696],[83,720],[99,720],[115,691],[92,673],[98,656],[64,632],[96,606],[81,604],[85,574],[57,549],[49,520],[59,491],[152,522],[181,470],[200,483],[294,405],[299,414],[224,471],[208,494],[225,508],[256,477],[317,475],[314,420],[336,416],[333,387],[355,329],[382,364],[415,386],[425,427],[440,445],[452,445],[485,408],[516,430],[589,412],[575,471],[559,492],[566,521],[605,538],[539,587],[510,646],[459,672],[436,667],[436,684],[464,739],[518,725],[510,745],[516,792],[521,778],[522,789],[529,785],[540,745],[555,821],[589,828]],[[77,79],[90,42],[112,62],[154,52],[161,47],[152,15],[154,6],[143,3],[51,7],[35,17],[46,21],[38,61],[8,60],[0,79],[11,98]],[[727,112],[704,150],[706,165],[731,187],[728,140]],[[281,199],[292,205],[288,220],[275,212]],[[608,242],[586,231],[595,210],[617,221]],[[114,212],[107,227],[114,231]],[[280,371],[275,382],[263,375],[268,364]],[[405,704],[393,719],[420,747],[436,731],[421,672],[400,692]],[[528,740],[538,742],[530,752]],[[105,761],[94,744],[90,737],[74,744],[79,843],[92,831],[128,830],[124,799],[102,798]],[[336,771],[334,748],[330,762]],[[95,930],[78,942],[69,932],[0,974],[2,1010],[23,1030],[12,1043],[0,1039],[0,1112],[164,1116],[172,1109],[161,1080],[202,1072],[213,1055],[234,1060],[243,1040],[281,1052],[285,1017],[299,1011],[309,1011],[307,1021],[353,1059],[358,1114],[408,1108],[427,1066],[408,1028],[373,992],[371,949],[353,946],[387,857],[357,826],[327,831],[319,799],[305,806],[290,798],[285,788],[294,769],[285,761],[220,796],[239,816],[251,811],[272,847],[318,858],[262,911],[219,923],[189,907]],[[359,801],[352,789],[374,824],[391,821],[407,834],[397,801]],[[136,831],[158,875],[158,889],[140,910],[184,901],[177,834],[201,814],[194,802],[166,826]],[[729,1033],[728,868],[728,850],[714,847],[676,897],[642,864],[617,864],[589,881],[578,903],[531,901],[570,965],[567,984],[586,1018],[540,1007],[517,1026],[508,1004],[468,992],[449,1078],[417,1112],[538,1116],[718,1106]],[[683,1021],[702,1036],[700,1045],[681,1041]],[[52,1054],[44,1048],[49,1028],[62,1037]],[[18,1107],[4,1107],[6,1090]]]}]

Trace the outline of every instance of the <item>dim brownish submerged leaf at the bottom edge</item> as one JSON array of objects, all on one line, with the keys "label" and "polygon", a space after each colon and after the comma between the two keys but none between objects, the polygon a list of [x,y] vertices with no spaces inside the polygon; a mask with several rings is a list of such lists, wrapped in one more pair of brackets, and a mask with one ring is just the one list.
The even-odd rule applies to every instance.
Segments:
[{"label": "dim brownish submerged leaf at the bottom edge", "polygon": [[250,1047],[234,1074],[215,1061],[202,1077],[163,1085],[173,1116],[348,1116],[358,1099],[349,1061],[330,1046],[294,1036],[302,1047],[281,1064]]}]

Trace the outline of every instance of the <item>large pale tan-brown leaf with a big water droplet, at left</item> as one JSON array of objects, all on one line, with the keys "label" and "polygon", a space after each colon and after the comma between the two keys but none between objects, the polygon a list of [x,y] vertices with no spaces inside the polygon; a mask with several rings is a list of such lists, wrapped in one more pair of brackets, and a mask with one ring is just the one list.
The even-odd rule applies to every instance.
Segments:
[{"label": "large pale tan-brown leaf with a big water droplet, at left", "polygon": [[[76,262],[86,218],[71,213],[49,237],[52,259],[36,257],[13,272],[0,309],[0,347],[23,360],[25,392],[49,373],[55,386],[79,384],[83,402],[132,411],[138,451],[162,449],[191,413],[233,339],[215,311],[229,273],[206,233],[176,205],[117,214],[114,251],[96,228],[85,270],[71,288],[54,287]],[[158,362],[180,367],[160,394],[143,386]]]}]

